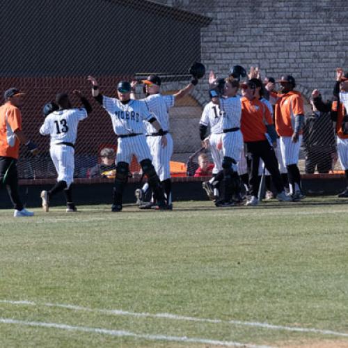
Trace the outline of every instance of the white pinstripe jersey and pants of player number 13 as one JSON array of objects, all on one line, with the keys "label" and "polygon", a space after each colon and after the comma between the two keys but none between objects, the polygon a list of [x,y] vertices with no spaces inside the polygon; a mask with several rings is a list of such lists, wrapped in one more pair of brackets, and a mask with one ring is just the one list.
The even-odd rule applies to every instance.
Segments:
[{"label": "white pinstripe jersey and pants of player number 13", "polygon": [[87,117],[84,108],[65,109],[50,113],[40,127],[40,134],[51,136],[49,153],[58,174],[57,181],[65,181],[67,186],[74,181],[74,145],[79,121]]}]

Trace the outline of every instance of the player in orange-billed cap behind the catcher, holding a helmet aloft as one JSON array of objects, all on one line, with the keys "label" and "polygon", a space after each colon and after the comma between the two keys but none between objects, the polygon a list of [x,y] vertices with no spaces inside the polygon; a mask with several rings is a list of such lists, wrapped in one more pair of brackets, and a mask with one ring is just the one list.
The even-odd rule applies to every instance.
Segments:
[{"label": "player in orange-billed cap behind the catcher, holding a helmet aloft", "polygon": [[[147,95],[143,101],[148,107],[148,111],[157,118],[167,137],[167,145],[164,148],[161,146],[161,136],[159,136],[155,127],[153,127],[151,123],[145,122],[145,135],[152,155],[152,164],[155,167],[159,180],[161,180],[161,185],[166,193],[168,206],[172,207],[170,161],[171,156],[173,155],[173,138],[169,133],[169,110],[175,105],[177,100],[180,100],[191,93],[196,84],[198,84],[198,78],[193,77],[190,84],[172,95],[161,95],[159,92],[161,79],[157,75],[150,75],[142,82],[145,86],[145,94]],[[136,81],[132,81],[132,99],[135,99],[135,87]],[[152,205],[151,203],[145,205],[142,204],[143,197],[145,196],[146,191],[148,191],[148,187],[148,183],[145,183],[142,189],[136,189],[135,191],[137,202],[140,203],[139,207],[145,209]]]}]

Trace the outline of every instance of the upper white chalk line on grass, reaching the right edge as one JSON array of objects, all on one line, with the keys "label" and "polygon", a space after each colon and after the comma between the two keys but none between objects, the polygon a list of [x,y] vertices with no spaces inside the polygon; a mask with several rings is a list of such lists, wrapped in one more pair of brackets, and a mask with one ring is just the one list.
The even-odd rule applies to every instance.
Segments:
[{"label": "upper white chalk line on grass, reaching the right edge", "polygon": [[63,303],[47,303],[47,302],[36,303],[33,301],[0,300],[0,303],[8,303],[8,304],[14,304],[14,305],[27,305],[27,306],[46,306],[46,307],[55,307],[55,308],[66,308],[70,310],[82,310],[84,312],[103,313],[106,315],[128,315],[130,317],[163,318],[163,319],[182,320],[187,322],[205,322],[205,323],[211,323],[211,324],[234,324],[234,325],[242,325],[242,326],[260,327],[262,329],[285,330],[285,331],[294,331],[294,332],[303,332],[303,333],[320,333],[322,335],[335,335],[340,337],[348,337],[348,333],[342,333],[342,332],[332,331],[332,330],[274,325],[274,324],[267,324],[262,322],[242,322],[240,320],[223,320],[223,319],[188,317],[184,315],[175,315],[171,313],[155,313],[155,314],[136,313],[136,312],[129,312],[127,310],[93,309],[93,308],[74,306],[74,305],[63,304]]}]

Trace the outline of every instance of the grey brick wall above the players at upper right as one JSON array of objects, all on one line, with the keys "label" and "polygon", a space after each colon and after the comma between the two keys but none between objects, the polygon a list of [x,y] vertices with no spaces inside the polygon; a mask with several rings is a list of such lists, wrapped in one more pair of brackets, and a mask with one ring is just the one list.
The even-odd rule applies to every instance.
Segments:
[{"label": "grey brick wall above the players at upper right", "polygon": [[220,76],[232,65],[258,65],[263,75],[293,74],[309,97],[331,96],[335,68],[348,70],[345,0],[157,0],[212,17],[203,28],[202,60]]}]

